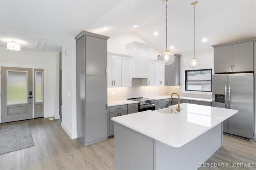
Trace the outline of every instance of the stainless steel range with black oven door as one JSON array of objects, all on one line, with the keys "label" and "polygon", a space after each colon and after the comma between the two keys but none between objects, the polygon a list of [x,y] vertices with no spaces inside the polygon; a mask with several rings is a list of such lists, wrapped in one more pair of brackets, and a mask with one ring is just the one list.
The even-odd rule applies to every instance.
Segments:
[{"label": "stainless steel range with black oven door", "polygon": [[132,98],[128,100],[134,100],[139,102],[139,112],[145,110],[155,110],[156,103],[154,99],[148,98]]}]

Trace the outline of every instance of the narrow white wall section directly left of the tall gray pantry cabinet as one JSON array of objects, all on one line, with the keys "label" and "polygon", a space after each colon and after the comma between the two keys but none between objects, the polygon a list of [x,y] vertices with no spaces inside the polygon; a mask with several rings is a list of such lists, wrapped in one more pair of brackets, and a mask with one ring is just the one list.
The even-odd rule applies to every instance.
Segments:
[{"label": "narrow white wall section directly left of the tall gray pantry cabinet", "polygon": [[[68,54],[65,54],[65,51]],[[71,139],[76,132],[76,40],[70,38],[62,46],[62,123]]]}]

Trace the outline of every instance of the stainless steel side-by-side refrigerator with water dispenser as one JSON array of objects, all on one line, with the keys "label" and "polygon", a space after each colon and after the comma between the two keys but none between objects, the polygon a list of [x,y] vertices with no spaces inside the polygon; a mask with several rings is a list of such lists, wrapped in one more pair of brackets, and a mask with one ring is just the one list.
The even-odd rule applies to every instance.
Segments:
[{"label": "stainless steel side-by-side refrigerator with water dispenser", "polygon": [[253,73],[212,75],[212,106],[238,110],[223,122],[223,132],[254,139]]}]

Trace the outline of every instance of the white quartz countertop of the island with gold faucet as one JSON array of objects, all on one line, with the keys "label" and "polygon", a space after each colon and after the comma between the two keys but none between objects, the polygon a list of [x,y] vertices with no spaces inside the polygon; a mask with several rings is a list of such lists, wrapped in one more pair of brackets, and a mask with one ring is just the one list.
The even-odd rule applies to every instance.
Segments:
[{"label": "white quartz countertop of the island with gold faucet", "polygon": [[170,109],[176,111],[175,106],[112,117],[112,120],[171,147],[182,147],[238,112],[183,103],[180,112],[171,114]]}]

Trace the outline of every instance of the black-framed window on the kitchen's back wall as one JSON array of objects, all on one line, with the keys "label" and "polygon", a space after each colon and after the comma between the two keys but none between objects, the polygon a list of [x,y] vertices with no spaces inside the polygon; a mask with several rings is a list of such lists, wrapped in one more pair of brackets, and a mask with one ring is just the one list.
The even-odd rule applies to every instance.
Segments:
[{"label": "black-framed window on the kitchen's back wall", "polygon": [[185,90],[212,92],[212,69],[186,70]]}]

